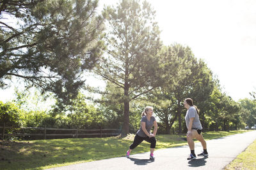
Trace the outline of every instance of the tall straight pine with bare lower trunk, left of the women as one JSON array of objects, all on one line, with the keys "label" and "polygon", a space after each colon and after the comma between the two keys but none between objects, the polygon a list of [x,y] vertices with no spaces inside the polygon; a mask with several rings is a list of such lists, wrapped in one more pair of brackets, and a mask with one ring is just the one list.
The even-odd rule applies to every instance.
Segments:
[{"label": "tall straight pine with bare lower trunk, left of the women", "polygon": [[122,133],[129,132],[129,104],[156,88],[157,52],[161,48],[155,11],[147,1],[123,0],[116,8],[106,8],[109,27],[108,55],[96,69],[117,88],[122,89],[124,103]]}]

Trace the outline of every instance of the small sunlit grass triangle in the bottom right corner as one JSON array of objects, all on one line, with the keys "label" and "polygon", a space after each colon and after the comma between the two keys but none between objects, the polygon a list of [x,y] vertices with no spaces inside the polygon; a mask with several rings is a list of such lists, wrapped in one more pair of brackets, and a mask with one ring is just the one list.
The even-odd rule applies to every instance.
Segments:
[{"label": "small sunlit grass triangle in the bottom right corner", "polygon": [[256,169],[256,140],[225,167],[229,169]]}]

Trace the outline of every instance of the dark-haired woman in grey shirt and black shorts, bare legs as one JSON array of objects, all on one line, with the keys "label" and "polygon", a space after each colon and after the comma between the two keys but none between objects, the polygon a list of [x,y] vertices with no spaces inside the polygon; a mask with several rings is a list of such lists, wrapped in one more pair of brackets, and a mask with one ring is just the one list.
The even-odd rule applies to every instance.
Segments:
[{"label": "dark-haired woman in grey shirt and black shorts, bare legs", "polygon": [[186,126],[188,128],[187,132],[187,141],[190,148],[190,155],[188,160],[196,159],[195,155],[195,143],[193,141],[194,138],[198,139],[201,142],[204,152],[198,154],[198,156],[208,156],[206,142],[202,136],[202,125],[199,120],[199,111],[196,106],[193,104],[193,100],[191,98],[187,98],[184,101],[184,107],[187,109],[187,113],[185,116]]}]

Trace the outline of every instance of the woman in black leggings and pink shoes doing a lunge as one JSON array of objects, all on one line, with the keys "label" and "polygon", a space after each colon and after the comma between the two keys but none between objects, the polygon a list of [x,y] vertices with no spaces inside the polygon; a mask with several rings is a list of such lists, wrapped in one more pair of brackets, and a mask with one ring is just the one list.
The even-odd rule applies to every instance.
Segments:
[{"label": "woman in black leggings and pink shoes doing a lunge", "polygon": [[[126,152],[126,157],[130,157],[131,151],[136,148],[142,141],[147,141],[150,143],[150,159],[154,159],[154,150],[156,148],[156,132],[157,132],[157,122],[156,118],[153,117],[153,107],[147,106],[145,110],[141,113],[140,129],[134,137],[134,141],[129,150]],[[151,128],[154,126],[153,134],[150,132]]]}]

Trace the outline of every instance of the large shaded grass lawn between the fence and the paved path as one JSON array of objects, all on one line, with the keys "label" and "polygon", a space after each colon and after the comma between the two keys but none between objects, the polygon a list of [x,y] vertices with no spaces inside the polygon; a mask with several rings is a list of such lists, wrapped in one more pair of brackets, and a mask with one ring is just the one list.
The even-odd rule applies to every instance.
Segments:
[{"label": "large shaded grass lawn between the fence and the paved path", "polygon": [[[206,140],[245,131],[204,132]],[[186,145],[185,135],[157,135],[156,149]],[[125,156],[134,134],[125,138],[78,138],[35,141],[0,141],[1,169],[46,169]],[[141,143],[134,153],[148,152],[149,144]]]}]

